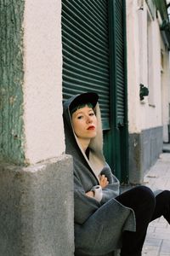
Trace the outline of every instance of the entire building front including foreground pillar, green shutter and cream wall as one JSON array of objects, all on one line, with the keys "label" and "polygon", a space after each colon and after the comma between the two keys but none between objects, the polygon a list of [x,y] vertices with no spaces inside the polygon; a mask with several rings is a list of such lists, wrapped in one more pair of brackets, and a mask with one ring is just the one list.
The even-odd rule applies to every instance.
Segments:
[{"label": "entire building front including foreground pillar, green shutter and cream wall", "polygon": [[1,255],[74,254],[69,96],[99,93],[106,160],[143,182],[168,141],[167,18],[165,1],[1,4]]}]

